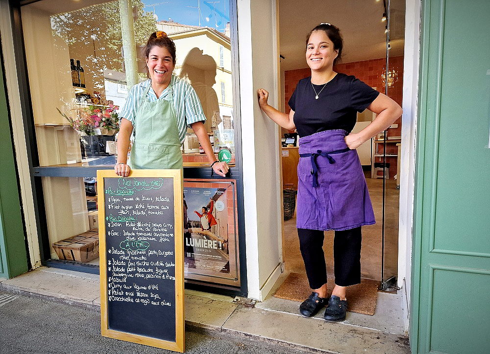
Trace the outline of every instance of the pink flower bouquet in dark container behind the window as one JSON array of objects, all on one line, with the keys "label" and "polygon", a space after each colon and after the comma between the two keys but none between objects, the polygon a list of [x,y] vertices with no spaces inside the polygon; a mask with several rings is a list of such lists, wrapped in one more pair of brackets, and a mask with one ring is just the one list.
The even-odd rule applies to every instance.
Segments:
[{"label": "pink flower bouquet in dark container behind the window", "polygon": [[57,110],[79,133],[83,155],[86,157],[108,155],[105,145],[107,141],[114,140],[114,134],[119,132],[118,106],[88,106],[77,109],[74,118]]}]

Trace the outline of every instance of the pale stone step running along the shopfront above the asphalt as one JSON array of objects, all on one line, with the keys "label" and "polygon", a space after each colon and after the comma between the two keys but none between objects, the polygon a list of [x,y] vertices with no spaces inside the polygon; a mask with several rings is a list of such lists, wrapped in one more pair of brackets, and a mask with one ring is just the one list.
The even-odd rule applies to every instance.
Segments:
[{"label": "pale stone step running along the shopfront above the asphalt", "polygon": [[[2,280],[0,288],[100,309],[98,275],[41,267]],[[403,311],[393,311],[393,306],[386,304],[395,301],[401,307],[401,296],[396,294],[378,293],[375,316],[348,312],[342,323],[325,322],[322,311],[313,318],[304,318],[297,313],[299,303],[272,296],[255,307],[237,300],[240,299],[185,290],[186,325],[207,333],[246,337],[308,353],[410,353],[404,320],[400,318]]]}]

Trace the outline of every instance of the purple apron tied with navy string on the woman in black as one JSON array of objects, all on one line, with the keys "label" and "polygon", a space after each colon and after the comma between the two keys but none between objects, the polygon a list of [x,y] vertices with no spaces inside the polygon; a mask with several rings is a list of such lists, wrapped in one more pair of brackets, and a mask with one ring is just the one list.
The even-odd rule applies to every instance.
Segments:
[{"label": "purple apron tied with navy string on the woman in black", "polygon": [[343,129],[299,139],[296,227],[347,230],[375,223],[366,178]]}]

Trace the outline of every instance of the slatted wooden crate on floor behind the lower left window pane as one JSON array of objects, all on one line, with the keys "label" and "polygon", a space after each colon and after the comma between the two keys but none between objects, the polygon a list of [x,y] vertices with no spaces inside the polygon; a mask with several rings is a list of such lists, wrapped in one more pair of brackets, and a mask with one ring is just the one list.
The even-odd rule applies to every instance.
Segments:
[{"label": "slatted wooden crate on floor behind the lower left window pane", "polygon": [[98,257],[98,230],[53,243],[53,248],[60,260],[89,262]]}]

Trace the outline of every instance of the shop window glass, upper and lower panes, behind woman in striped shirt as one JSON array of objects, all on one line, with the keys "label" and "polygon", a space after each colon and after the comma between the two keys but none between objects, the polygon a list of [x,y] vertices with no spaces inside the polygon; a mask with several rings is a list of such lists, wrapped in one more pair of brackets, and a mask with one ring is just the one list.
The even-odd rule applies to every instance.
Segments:
[{"label": "shop window glass, upper and lower panes, behind woman in striped shirt", "polygon": [[[95,171],[111,169],[116,162],[116,115],[126,102],[128,87],[122,51],[127,38],[123,39],[119,2],[92,3],[84,7],[75,1],[40,0],[22,6],[21,15],[40,165],[37,176],[43,182],[49,235],[50,255],[45,258],[97,265],[98,243],[91,233],[98,227]],[[147,80],[141,48],[152,32],[165,31],[177,48],[174,75],[196,90],[215,153],[231,152],[233,164],[229,6],[220,11],[221,21],[207,26],[197,23],[197,15],[182,16],[194,3],[148,7],[141,0],[131,2],[135,11],[130,42],[136,46],[138,81]],[[159,21],[160,12],[166,14],[162,18],[181,20]],[[223,92],[224,83],[228,92]],[[229,97],[227,104],[224,99],[219,102],[220,94]],[[102,124],[112,118],[113,124]],[[192,130],[182,153],[184,167],[196,162],[207,167]]]}]

